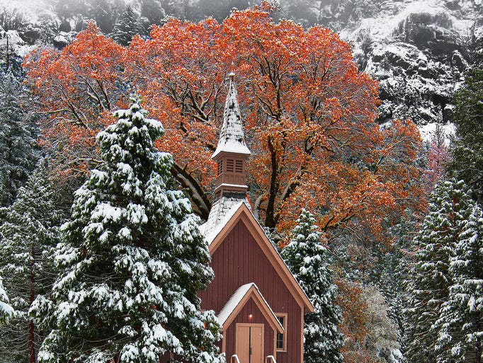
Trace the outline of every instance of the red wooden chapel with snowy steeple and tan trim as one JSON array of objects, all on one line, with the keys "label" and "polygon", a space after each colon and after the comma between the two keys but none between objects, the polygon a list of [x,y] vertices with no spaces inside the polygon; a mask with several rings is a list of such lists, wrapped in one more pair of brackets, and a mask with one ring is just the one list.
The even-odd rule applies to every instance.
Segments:
[{"label": "red wooden chapel with snowy steeple and tan trim", "polygon": [[199,293],[222,326],[221,349],[229,363],[302,363],[304,313],[313,306],[251,214],[246,199],[244,129],[234,74],[212,159],[218,175],[208,221],[215,280]]}]

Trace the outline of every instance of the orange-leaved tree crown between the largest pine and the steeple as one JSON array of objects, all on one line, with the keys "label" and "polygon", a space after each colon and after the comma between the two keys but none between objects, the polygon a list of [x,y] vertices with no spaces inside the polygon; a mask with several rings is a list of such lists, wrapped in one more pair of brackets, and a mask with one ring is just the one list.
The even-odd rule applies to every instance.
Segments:
[{"label": "orange-leaved tree crown between the largest pine and the steeple", "polygon": [[210,212],[215,151],[226,93],[227,59],[217,38],[221,26],[208,19],[153,25],[149,39],[139,37],[127,50],[125,77],[144,96],[152,117],[163,120],[166,137],[157,147],[174,155],[172,172],[201,217]]}]

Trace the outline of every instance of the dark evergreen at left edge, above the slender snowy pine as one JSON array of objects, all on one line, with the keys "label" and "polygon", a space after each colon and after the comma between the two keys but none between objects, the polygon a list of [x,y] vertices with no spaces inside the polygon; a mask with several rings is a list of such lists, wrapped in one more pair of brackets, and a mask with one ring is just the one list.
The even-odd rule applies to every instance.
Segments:
[{"label": "dark evergreen at left edge, above the slender snowy pine", "polygon": [[21,80],[0,74],[0,207],[15,200],[38,160],[35,124],[21,108],[24,93]]}]

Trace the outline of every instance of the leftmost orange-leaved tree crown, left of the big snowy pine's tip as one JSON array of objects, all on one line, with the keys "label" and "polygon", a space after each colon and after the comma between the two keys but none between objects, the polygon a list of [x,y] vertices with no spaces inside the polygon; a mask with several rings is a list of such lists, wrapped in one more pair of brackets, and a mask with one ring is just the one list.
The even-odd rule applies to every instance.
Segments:
[{"label": "leftmost orange-leaved tree crown, left of the big snowy pine's tip", "polygon": [[57,171],[67,175],[96,163],[96,134],[112,120],[120,95],[125,49],[89,23],[62,51],[46,48],[25,57],[40,117],[41,141],[55,151]]}]

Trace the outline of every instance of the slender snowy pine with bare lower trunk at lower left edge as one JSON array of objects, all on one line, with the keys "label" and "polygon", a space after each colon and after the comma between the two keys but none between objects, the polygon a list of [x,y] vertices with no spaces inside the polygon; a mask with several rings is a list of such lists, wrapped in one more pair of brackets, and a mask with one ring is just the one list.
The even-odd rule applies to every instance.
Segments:
[{"label": "slender snowy pine with bare lower trunk at lower left edge", "polygon": [[0,275],[4,277],[16,316],[2,328],[0,362],[35,362],[40,330],[28,316],[38,294],[48,294],[55,280],[50,256],[59,242],[62,213],[43,165],[18,190],[18,197],[4,208],[0,225]]}]

